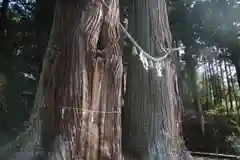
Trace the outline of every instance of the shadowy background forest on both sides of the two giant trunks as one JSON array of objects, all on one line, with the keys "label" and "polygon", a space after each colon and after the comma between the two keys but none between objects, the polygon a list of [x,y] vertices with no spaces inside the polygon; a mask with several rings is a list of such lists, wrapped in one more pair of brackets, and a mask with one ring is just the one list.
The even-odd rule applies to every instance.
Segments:
[{"label": "shadowy background forest on both sides of the two giant trunks", "polygon": [[[129,2],[121,1],[126,25]],[[24,131],[30,116],[54,4],[0,0],[2,146]],[[175,44],[186,47],[179,75],[187,148],[240,155],[240,1],[168,0],[168,15]]]}]

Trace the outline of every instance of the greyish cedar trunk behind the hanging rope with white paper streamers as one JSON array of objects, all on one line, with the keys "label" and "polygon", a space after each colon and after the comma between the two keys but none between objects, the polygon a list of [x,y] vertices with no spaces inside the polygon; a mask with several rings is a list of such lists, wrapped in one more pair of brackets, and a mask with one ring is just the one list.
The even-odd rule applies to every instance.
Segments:
[{"label": "greyish cedar trunk behind the hanging rope with white paper streamers", "polygon": [[[130,30],[152,56],[157,43],[172,45],[165,0],[133,0]],[[158,52],[158,53],[157,53]],[[123,149],[139,160],[180,159],[180,103],[176,67],[164,61],[164,75],[146,71],[136,57],[129,58],[126,103],[123,107]]]}]

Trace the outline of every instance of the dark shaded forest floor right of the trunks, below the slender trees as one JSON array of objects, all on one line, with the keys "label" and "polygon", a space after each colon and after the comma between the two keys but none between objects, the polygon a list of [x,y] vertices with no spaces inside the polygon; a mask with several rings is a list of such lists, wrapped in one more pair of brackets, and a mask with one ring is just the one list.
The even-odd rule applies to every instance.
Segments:
[{"label": "dark shaded forest floor right of the trunks, below the slender trees", "polygon": [[240,136],[238,125],[223,115],[205,116],[204,133],[196,116],[185,116],[183,135],[186,146],[193,152],[236,154],[227,140],[232,134]]}]

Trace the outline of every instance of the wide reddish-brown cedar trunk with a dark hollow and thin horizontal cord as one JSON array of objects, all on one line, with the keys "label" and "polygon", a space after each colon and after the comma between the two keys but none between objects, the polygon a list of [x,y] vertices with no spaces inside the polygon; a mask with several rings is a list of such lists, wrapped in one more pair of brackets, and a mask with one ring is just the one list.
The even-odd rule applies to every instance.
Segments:
[{"label": "wide reddish-brown cedar trunk with a dark hollow and thin horizontal cord", "polygon": [[106,3],[56,2],[35,102],[39,159],[121,159],[119,5]]}]

